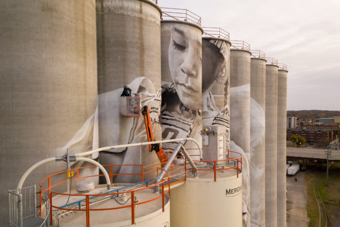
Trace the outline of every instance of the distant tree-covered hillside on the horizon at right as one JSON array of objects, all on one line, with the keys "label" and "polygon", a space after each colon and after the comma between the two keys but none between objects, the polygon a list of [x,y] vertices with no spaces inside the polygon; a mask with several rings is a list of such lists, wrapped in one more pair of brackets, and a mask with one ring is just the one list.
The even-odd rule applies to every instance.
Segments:
[{"label": "distant tree-covered hillside on the horizon at right", "polygon": [[316,119],[319,117],[334,117],[340,116],[340,111],[321,111],[321,110],[302,110],[302,111],[287,111],[288,116],[295,116],[302,119]]}]

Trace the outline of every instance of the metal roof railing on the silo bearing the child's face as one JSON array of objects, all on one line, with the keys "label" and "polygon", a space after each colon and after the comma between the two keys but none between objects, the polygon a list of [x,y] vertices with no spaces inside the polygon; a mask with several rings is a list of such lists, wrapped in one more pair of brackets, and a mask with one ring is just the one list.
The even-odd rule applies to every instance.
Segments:
[{"label": "metal roof railing on the silo bearing the child's face", "polygon": [[[167,18],[166,20],[175,19],[177,21],[185,21],[197,24],[201,26],[202,19],[197,14],[192,13],[188,9],[177,9],[177,8],[166,8],[161,7],[162,9],[162,20],[163,18]],[[170,18],[170,19],[169,19]]]}]

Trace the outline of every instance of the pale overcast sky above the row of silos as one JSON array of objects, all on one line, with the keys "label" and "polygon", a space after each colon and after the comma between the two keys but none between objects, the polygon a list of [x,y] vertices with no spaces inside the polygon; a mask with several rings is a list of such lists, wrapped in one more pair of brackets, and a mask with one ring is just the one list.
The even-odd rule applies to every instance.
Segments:
[{"label": "pale overcast sky above the row of silos", "polygon": [[288,66],[287,110],[340,111],[340,0],[158,0]]}]

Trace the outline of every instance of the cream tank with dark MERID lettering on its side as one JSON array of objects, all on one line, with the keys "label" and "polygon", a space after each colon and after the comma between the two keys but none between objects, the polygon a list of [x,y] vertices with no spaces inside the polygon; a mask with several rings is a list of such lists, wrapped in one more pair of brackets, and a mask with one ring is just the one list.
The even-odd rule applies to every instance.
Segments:
[{"label": "cream tank with dark MERID lettering on its side", "polygon": [[[233,171],[234,176],[228,171]],[[236,177],[235,172],[226,170],[227,176],[220,175],[216,182],[213,176],[187,178],[185,184],[171,188],[171,227],[240,227],[243,184],[242,173]]]}]

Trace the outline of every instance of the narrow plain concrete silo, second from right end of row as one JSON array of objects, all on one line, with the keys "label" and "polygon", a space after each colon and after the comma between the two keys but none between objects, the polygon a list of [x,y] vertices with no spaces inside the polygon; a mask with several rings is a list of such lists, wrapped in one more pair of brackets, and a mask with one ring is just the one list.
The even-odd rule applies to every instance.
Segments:
[{"label": "narrow plain concrete silo, second from right end of row", "polygon": [[266,65],[266,226],[277,225],[277,69]]}]

